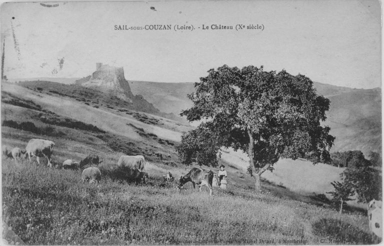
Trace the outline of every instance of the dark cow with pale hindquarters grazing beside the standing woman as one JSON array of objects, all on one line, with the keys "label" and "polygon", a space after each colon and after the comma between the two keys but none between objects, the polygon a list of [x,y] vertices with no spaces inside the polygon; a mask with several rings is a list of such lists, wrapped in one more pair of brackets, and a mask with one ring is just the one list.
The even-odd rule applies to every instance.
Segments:
[{"label": "dark cow with pale hindquarters grazing beside the standing woman", "polygon": [[197,183],[199,191],[201,191],[202,186],[208,186],[209,195],[212,195],[212,179],[213,171],[209,170],[208,172],[204,172],[200,168],[193,167],[186,175],[180,176],[178,188],[181,189],[185,183],[190,181],[193,184],[193,188],[195,187],[195,183]]}]

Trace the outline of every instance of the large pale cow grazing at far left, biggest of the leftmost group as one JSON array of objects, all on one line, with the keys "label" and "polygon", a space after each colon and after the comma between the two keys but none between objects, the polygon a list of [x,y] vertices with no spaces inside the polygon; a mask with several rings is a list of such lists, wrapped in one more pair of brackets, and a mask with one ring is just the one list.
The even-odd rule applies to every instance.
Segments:
[{"label": "large pale cow grazing at far left, biggest of the leftmost group", "polygon": [[45,157],[48,160],[47,166],[52,167],[50,155],[53,152],[54,142],[45,139],[32,138],[25,147],[29,161],[31,157],[36,156],[37,163],[40,164],[39,157]]}]

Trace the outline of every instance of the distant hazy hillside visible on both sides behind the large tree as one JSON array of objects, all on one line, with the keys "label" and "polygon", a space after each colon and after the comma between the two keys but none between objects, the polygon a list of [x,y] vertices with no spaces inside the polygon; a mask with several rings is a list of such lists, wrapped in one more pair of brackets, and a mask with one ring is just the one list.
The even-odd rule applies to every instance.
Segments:
[{"label": "distant hazy hillside visible on both sides behind the large tree", "polygon": [[[191,107],[187,94],[194,83],[160,83],[129,81],[133,93],[140,93],[164,112],[179,114]],[[330,99],[330,110],[323,123],[336,137],[331,152],[361,150],[381,152],[381,89],[354,89],[319,82],[313,83],[317,93]]]}]

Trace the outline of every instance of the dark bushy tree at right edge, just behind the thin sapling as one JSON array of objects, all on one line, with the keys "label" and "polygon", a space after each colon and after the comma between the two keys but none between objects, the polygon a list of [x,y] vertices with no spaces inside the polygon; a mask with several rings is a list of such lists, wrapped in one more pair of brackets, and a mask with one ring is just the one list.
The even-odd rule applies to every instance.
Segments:
[{"label": "dark bushy tree at right edge, just behind the thin sapling", "polygon": [[365,202],[367,209],[370,200],[382,199],[382,180],[379,171],[369,167],[348,167],[340,176],[344,183],[356,193],[357,202]]}]

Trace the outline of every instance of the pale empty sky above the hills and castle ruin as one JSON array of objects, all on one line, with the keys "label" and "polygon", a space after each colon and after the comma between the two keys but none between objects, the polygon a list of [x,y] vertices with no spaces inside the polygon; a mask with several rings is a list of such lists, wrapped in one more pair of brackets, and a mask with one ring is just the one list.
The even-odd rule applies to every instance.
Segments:
[{"label": "pale empty sky above the hills and castle ruin", "polygon": [[[8,78],[83,77],[102,62],[124,67],[128,80],[194,82],[210,68],[252,64],[333,85],[381,86],[378,1],[46,4],[58,6],[1,5]],[[150,24],[170,24],[172,30],[114,30]],[[194,30],[174,31],[175,24]],[[202,30],[203,24],[262,24],[264,29]]]}]

